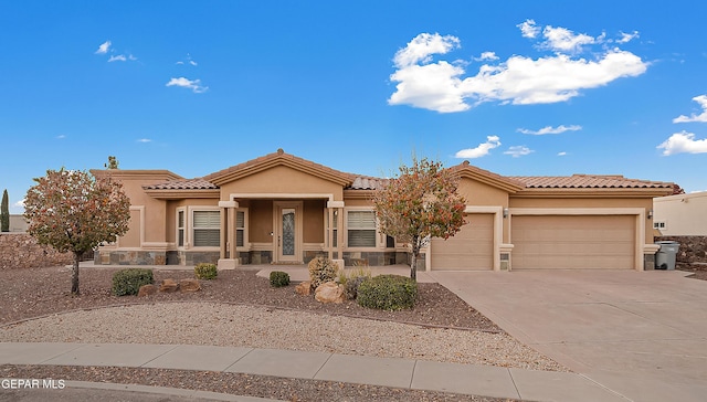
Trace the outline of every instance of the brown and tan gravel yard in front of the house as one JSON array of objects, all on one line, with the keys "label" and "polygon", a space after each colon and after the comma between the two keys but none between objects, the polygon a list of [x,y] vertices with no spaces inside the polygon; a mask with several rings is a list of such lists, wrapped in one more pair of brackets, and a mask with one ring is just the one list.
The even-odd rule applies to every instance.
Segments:
[{"label": "brown and tan gravel yard in front of the house", "polygon": [[[313,296],[296,295],[293,285],[273,288],[254,271],[240,269],[221,272],[214,281],[201,281],[202,290],[193,294],[116,297],[109,292],[115,271],[83,269],[82,295],[77,297],[67,294],[71,288],[67,268],[3,271],[0,341],[250,346],[566,370],[517,342],[439,284],[419,284],[420,299],[413,309],[381,311],[362,308],[355,302],[320,304]],[[193,277],[193,273],[155,271],[156,283],[168,277],[178,281]],[[30,374],[193,388],[292,401],[498,401],[359,384],[180,370],[0,368],[3,378]]]}]

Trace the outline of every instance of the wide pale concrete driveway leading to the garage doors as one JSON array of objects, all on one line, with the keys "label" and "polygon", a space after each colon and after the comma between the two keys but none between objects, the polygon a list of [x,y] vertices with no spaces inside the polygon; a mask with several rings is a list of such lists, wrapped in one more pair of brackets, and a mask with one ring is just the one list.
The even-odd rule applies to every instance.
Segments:
[{"label": "wide pale concrete driveway leading to the garage doors", "polygon": [[429,274],[521,342],[627,400],[707,400],[706,281],[679,271]]}]

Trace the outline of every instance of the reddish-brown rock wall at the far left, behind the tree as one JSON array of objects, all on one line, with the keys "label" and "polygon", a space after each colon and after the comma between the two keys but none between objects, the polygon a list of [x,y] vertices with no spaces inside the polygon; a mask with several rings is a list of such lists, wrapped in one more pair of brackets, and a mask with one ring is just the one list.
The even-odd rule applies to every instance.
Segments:
[{"label": "reddish-brown rock wall at the far left, behind the tree", "polygon": [[36,244],[27,233],[0,233],[0,271],[68,265],[72,253],[57,253],[52,247]]}]

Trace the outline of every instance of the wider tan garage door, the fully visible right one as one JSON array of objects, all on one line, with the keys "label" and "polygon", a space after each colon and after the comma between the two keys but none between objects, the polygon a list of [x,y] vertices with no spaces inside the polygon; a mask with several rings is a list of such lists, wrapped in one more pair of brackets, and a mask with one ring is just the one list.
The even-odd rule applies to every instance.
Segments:
[{"label": "wider tan garage door, the fully visible right one", "polygon": [[511,267],[632,269],[635,222],[635,215],[514,215]]}]

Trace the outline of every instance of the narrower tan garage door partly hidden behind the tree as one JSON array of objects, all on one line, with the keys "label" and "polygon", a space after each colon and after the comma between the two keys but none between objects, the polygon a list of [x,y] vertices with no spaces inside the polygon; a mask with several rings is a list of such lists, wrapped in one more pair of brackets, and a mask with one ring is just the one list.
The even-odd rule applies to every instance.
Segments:
[{"label": "narrower tan garage door partly hidden behind the tree", "polygon": [[494,214],[469,213],[454,236],[433,239],[432,269],[479,271],[494,267]]}]

